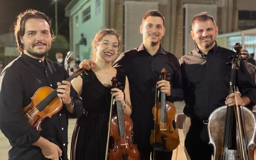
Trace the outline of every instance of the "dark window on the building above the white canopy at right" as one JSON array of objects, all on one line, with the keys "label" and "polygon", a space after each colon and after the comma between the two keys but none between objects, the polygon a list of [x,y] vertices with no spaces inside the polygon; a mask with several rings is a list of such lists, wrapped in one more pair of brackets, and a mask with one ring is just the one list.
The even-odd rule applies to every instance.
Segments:
[{"label": "dark window on the building above the white canopy at right", "polygon": [[238,11],[238,28],[256,28],[256,11]]}]

